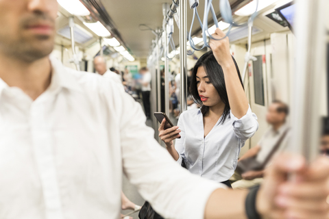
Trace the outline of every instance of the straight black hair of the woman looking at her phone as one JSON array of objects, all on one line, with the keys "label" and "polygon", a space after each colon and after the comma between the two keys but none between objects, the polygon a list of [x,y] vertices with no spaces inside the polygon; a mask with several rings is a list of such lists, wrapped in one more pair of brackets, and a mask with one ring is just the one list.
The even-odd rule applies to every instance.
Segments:
[{"label": "straight black hair of the woman looking at her phone", "polygon": [[[232,56],[232,59],[236,66],[236,71],[238,72],[241,86],[243,87],[243,82],[241,79],[239,67],[236,64],[233,56]],[[226,91],[223,68],[221,68],[221,66],[218,64],[212,51],[208,51],[207,53],[202,55],[202,57],[200,57],[199,60],[197,60],[197,63],[195,64],[195,66],[193,68],[190,91],[191,91],[191,95],[193,96],[194,101],[197,104],[202,106],[201,112],[202,112],[203,116],[206,116],[206,114],[208,114],[209,107],[207,107],[206,105],[203,105],[203,103],[200,99],[200,96],[199,96],[199,92],[197,91],[197,69],[200,66],[204,67],[204,70],[206,71],[206,74],[208,75],[210,83],[212,83],[212,86],[215,87],[215,89],[217,90],[217,92],[221,98],[221,101],[223,101],[223,103],[225,104],[224,112],[223,112],[223,115],[221,116],[221,120],[220,120],[220,123],[223,124],[225,122],[227,116],[230,114],[230,109],[231,109],[230,103],[228,102],[228,92]],[[237,86],[239,86],[239,85],[237,85]]]}]

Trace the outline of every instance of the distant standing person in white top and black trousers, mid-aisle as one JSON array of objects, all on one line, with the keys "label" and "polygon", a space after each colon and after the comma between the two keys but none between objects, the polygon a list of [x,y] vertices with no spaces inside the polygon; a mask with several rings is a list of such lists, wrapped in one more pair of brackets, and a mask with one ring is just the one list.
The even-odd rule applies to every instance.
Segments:
[{"label": "distant standing person in white top and black trousers, mid-aisle", "polygon": [[151,73],[149,73],[146,67],[141,68],[140,73],[142,75],[141,84],[145,115],[147,118],[150,118],[151,104],[149,103],[149,94],[151,92]]}]

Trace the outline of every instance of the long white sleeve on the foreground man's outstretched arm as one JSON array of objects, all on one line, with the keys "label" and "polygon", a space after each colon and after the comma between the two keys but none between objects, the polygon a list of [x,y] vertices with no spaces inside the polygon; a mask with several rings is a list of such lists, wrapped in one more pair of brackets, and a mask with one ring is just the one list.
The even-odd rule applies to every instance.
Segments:
[{"label": "long white sleeve on the foreground man's outstretched arm", "polygon": [[[123,172],[138,192],[164,218],[204,218],[210,194],[226,188],[180,167],[145,125],[141,105],[119,90],[115,113],[119,120]],[[113,105],[113,103],[110,103]]]}]

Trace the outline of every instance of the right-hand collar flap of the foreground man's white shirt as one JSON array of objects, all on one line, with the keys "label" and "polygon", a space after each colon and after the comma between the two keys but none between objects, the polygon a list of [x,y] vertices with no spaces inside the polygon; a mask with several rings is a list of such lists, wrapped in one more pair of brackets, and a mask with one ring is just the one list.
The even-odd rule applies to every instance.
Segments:
[{"label": "right-hand collar flap of the foreground man's white shirt", "polygon": [[58,61],[55,57],[50,57],[52,66],[51,85],[49,88],[66,88],[69,90],[75,90],[82,92],[82,88],[70,71]]}]

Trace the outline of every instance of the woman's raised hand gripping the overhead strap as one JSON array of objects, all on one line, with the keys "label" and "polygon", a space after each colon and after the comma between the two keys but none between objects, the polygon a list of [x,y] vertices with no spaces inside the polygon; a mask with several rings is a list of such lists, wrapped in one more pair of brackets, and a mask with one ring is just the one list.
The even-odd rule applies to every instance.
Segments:
[{"label": "woman's raised hand gripping the overhead strap", "polygon": [[228,64],[234,65],[230,53],[230,41],[228,40],[228,37],[224,38],[226,34],[224,34],[224,32],[221,31],[221,29],[217,28],[215,34],[212,34],[211,36],[216,39],[223,38],[223,40],[210,39],[209,42],[209,46],[212,49],[212,53],[214,53],[218,64],[220,64],[222,67]]}]

